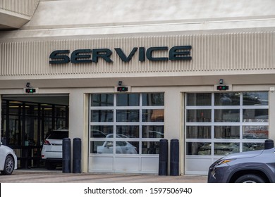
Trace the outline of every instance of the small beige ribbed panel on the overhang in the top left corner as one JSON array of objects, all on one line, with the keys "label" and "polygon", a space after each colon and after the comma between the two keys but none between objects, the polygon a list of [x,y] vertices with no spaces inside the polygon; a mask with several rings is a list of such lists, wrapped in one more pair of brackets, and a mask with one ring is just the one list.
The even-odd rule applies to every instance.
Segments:
[{"label": "small beige ribbed panel on the overhang in the top left corner", "polygon": [[39,0],[0,0],[0,10],[31,17],[38,3]]}]

